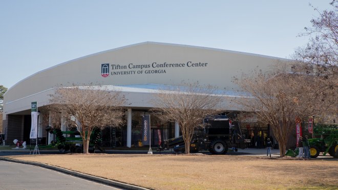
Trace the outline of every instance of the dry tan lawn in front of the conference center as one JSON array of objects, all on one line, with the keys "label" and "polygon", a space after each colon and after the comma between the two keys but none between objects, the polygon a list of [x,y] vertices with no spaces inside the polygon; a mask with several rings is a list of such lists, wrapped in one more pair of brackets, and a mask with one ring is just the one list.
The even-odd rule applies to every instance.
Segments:
[{"label": "dry tan lawn in front of the conference center", "polygon": [[338,189],[336,159],[128,154],[8,157],[43,162],[152,189]]}]

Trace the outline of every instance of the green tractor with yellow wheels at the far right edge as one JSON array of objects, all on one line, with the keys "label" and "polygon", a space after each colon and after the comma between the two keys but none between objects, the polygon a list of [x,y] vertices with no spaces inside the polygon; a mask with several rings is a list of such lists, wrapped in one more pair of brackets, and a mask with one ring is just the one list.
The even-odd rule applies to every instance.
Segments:
[{"label": "green tractor with yellow wheels at the far right edge", "polygon": [[321,152],[324,156],[329,153],[330,156],[338,158],[338,125],[315,125],[313,134],[320,138],[309,139],[311,158],[318,157]]}]

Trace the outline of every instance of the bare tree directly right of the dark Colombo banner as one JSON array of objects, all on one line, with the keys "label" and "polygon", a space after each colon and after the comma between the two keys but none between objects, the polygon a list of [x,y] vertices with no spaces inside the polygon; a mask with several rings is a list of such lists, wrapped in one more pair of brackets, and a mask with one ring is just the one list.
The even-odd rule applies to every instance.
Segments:
[{"label": "bare tree directly right of the dark Colombo banner", "polygon": [[203,128],[203,119],[220,112],[221,95],[212,86],[198,82],[182,82],[180,87],[168,87],[155,95],[153,111],[162,113],[162,121],[178,122],[185,143],[185,154],[190,153],[194,130]]}]

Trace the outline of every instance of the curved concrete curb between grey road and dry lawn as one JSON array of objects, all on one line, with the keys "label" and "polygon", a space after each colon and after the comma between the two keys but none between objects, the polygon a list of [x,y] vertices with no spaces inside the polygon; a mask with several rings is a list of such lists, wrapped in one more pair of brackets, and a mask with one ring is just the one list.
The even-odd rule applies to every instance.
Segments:
[{"label": "curved concrete curb between grey road and dry lawn", "polygon": [[109,186],[119,187],[119,188],[123,188],[123,189],[133,189],[133,190],[147,190],[148,189],[148,188],[139,187],[139,186],[135,186],[135,185],[127,184],[127,183],[113,181],[113,180],[110,180],[110,179],[104,179],[104,178],[101,178],[101,177],[91,176],[91,175],[88,175],[88,174],[82,174],[82,173],[79,173],[79,172],[67,170],[67,169],[62,168],[62,167],[57,167],[57,166],[48,165],[48,164],[39,163],[39,162],[16,160],[16,159],[3,158],[3,157],[0,157],[0,160],[9,161],[9,162],[16,162],[16,163],[23,163],[23,164],[30,164],[30,165],[36,165],[36,166],[48,168],[50,170],[54,170],[54,171],[57,171],[57,172],[61,172],[61,173],[64,173],[64,174],[69,174],[71,176],[76,176],[76,177],[83,178],[83,179],[86,179],[86,180],[98,182],[98,183],[109,185]]}]

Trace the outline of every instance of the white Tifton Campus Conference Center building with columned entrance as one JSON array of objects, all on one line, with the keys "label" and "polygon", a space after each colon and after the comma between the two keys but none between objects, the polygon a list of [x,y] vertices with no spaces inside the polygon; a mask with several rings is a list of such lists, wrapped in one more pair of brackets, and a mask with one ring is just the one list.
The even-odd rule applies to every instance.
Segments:
[{"label": "white Tifton Campus Conference Center building with columned entrance", "polygon": [[[234,96],[241,90],[231,82],[234,76],[257,68],[269,70],[277,61],[287,59],[155,42],[94,53],[41,70],[8,89],[4,95],[3,133],[8,143],[14,139],[29,141],[31,102],[36,101],[39,109],[49,104],[49,95],[54,94],[59,85],[99,83],[121,91],[127,99],[125,125],[102,130],[103,146],[138,146],[142,133],[141,115],[152,115],[149,113],[153,107],[152,98],[161,87],[177,86],[181,81],[198,81]],[[224,114],[239,111],[228,107]],[[55,136],[45,130],[46,126],[39,122],[38,136],[49,144]],[[247,136],[252,133],[270,135],[268,126],[255,120],[243,120],[241,127]],[[151,128],[152,144],[155,145],[159,138],[164,140],[180,134],[177,123],[163,124],[156,118],[151,119]],[[61,122],[61,130],[68,130],[65,122]]]}]

